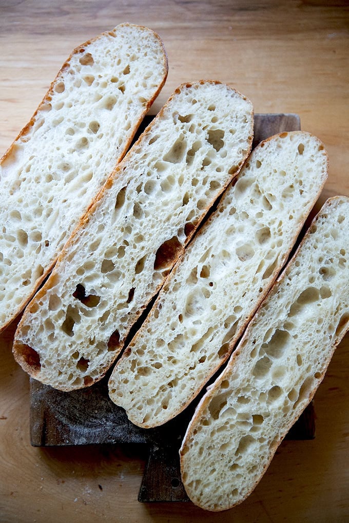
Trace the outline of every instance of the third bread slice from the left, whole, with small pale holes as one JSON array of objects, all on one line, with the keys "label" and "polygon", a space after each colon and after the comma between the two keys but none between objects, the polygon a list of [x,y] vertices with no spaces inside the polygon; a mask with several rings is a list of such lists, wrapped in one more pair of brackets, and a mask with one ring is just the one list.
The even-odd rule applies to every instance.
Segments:
[{"label": "third bread slice from the left, whole, with small pale holes", "polygon": [[252,152],[120,358],[109,395],[144,428],[181,412],[230,355],[327,178],[323,144],[281,133]]}]

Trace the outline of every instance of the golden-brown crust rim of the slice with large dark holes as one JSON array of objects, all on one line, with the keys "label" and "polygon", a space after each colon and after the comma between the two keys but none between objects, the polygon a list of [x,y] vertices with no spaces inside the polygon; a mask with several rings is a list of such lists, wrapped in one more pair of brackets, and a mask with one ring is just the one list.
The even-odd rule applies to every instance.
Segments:
[{"label": "golden-brown crust rim of the slice with large dark holes", "polygon": [[[74,243],[76,241],[78,241],[78,236],[80,235],[81,230],[87,225],[87,223],[88,223],[88,221],[90,219],[90,215],[93,214],[94,211],[96,210],[96,208],[98,207],[99,202],[104,197],[105,191],[107,191],[114,184],[114,181],[119,176],[122,176],[122,172],[127,167],[127,163],[129,161],[129,158],[132,157],[132,155],[134,154],[134,150],[136,150],[139,146],[142,145],[143,140],[145,140],[145,137],[147,137],[149,132],[151,132],[153,126],[155,125],[156,120],[161,118],[163,113],[167,110],[168,105],[171,103],[172,99],[177,94],[179,94],[181,92],[181,90],[184,89],[184,88],[189,88],[189,87],[192,87],[193,85],[197,85],[197,84],[202,85],[202,84],[206,84],[206,83],[225,85],[226,87],[228,87],[229,89],[231,89],[232,91],[237,93],[239,96],[243,97],[243,99],[248,100],[244,95],[239,93],[239,91],[237,91],[237,89],[234,89],[233,87],[230,87],[227,84],[224,84],[223,82],[220,82],[218,80],[203,80],[203,79],[201,79],[201,80],[199,80],[197,82],[185,82],[185,83],[182,83],[181,85],[179,85],[175,89],[174,93],[170,96],[170,98],[168,98],[166,104],[160,109],[160,111],[157,113],[155,118],[149,123],[148,127],[140,135],[140,137],[138,138],[137,142],[133,144],[133,146],[127,152],[127,154],[123,157],[121,162],[115,167],[114,171],[110,174],[110,176],[108,177],[108,179],[105,182],[104,186],[99,190],[97,195],[94,197],[94,199],[93,199],[91,205],[89,206],[87,212],[81,217],[80,221],[77,223],[77,225],[75,226],[74,230],[72,231],[70,237],[66,241],[66,243],[65,243],[61,253],[59,254],[59,256],[57,258],[57,261],[56,261],[56,263],[54,265],[54,268],[53,268],[53,271],[52,271],[51,275],[49,276],[47,281],[44,283],[44,285],[41,287],[41,289],[39,289],[39,291],[32,297],[31,301],[29,301],[29,303],[27,305],[27,308],[24,311],[24,314],[22,315],[20,322],[18,323],[16,332],[15,332],[15,336],[14,336],[14,344],[13,344],[13,348],[12,348],[13,354],[14,354],[14,358],[19,363],[19,365],[21,365],[21,367],[30,376],[32,376],[33,378],[37,377],[39,372],[35,369],[35,367],[32,367],[32,366],[28,365],[27,362],[25,362],[24,360],[22,360],[22,358],[20,358],[20,347],[22,346],[22,344],[21,344],[21,342],[17,342],[17,333],[20,332],[20,329],[21,329],[22,325],[26,324],[27,314],[30,313],[30,308],[32,306],[35,306],[36,303],[38,302],[38,300],[46,293],[46,289],[48,289],[48,288],[50,288],[52,286],[52,283],[51,283],[52,282],[52,278],[55,278],[55,274],[60,269],[60,264],[64,263],[64,257],[69,252],[69,249],[71,248],[71,245],[74,245]],[[250,100],[248,100],[248,101],[250,101]],[[251,137],[251,139],[250,139],[249,147],[247,147],[247,152],[246,152],[244,161],[246,160],[246,157],[249,155],[249,152],[251,151],[252,142],[253,142],[253,117],[254,117],[254,113],[253,113],[253,106],[252,106],[251,101],[250,101],[250,104],[251,104],[251,126],[250,126],[249,136]],[[222,192],[224,191],[224,189],[226,189],[226,187],[229,185],[229,183],[232,181],[232,179],[239,174],[239,172],[240,172],[240,170],[241,170],[241,168],[242,168],[242,166],[244,164],[244,161],[240,162],[240,164],[238,166],[238,169],[234,173],[232,173],[232,176],[227,181],[226,185],[224,185],[221,188],[220,194],[222,194]],[[219,195],[216,196],[216,198],[218,198],[218,197],[219,197]],[[188,244],[190,239],[193,237],[193,235],[195,234],[195,232],[199,228],[200,223],[202,222],[202,220],[204,220],[207,212],[209,211],[209,209],[210,209],[210,207],[211,207],[211,205],[213,203],[214,202],[212,201],[209,204],[209,206],[201,213],[200,220],[198,220],[198,222],[195,225],[195,228],[193,229],[193,231],[191,231],[190,234],[188,234],[188,236],[186,237],[186,242],[185,242],[185,244],[184,244],[184,246],[182,248],[182,251],[178,253],[177,259],[175,259],[173,261],[173,264],[172,264],[172,266],[170,268],[170,272],[171,272],[172,268],[174,267],[174,265],[176,264],[176,262],[178,261],[178,259],[181,259],[181,256],[184,253],[185,246]],[[156,295],[156,293],[159,292],[159,290],[163,287],[165,282],[166,282],[166,278],[162,282],[160,282],[159,285],[157,285],[157,287],[154,289],[152,297],[154,297],[154,295]],[[150,303],[152,297],[149,298],[147,303],[144,303],[144,304],[142,304],[140,306],[137,318],[139,318],[139,316],[141,316],[142,312],[147,308],[147,306]],[[137,318],[136,318],[135,322],[137,321]],[[131,331],[131,328],[132,328],[133,325],[134,325],[134,323],[132,325],[130,325],[128,333]],[[120,350],[122,350],[122,348]],[[119,354],[120,354],[120,351],[117,351],[117,354],[115,355],[114,361],[117,359]],[[108,367],[105,368],[104,373],[102,373],[97,379],[95,379],[94,381],[92,381],[88,385],[84,385],[82,388],[86,388],[87,386],[91,386],[91,385],[93,385],[93,383],[96,383],[97,381],[102,379],[105,376],[106,372],[114,364],[114,361],[111,362],[110,365],[108,365]],[[70,388],[60,388],[60,390],[67,392],[67,391],[70,391],[71,389]]]}]

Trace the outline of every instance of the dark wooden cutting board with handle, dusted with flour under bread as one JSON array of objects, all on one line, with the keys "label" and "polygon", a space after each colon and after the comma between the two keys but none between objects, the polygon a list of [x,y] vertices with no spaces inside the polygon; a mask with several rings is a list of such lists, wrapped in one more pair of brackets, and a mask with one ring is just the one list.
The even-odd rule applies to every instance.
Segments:
[{"label": "dark wooden cutting board with handle, dusted with flour under bread", "polygon": [[[147,124],[149,120],[145,121]],[[300,129],[298,115],[255,115],[254,143],[283,131]],[[91,444],[146,444],[149,459],[139,501],[187,501],[179,470],[178,450],[202,393],[162,427],[141,429],[108,396],[109,374],[80,391],[60,392],[30,379],[30,441],[36,447]],[[289,439],[314,437],[311,403],[288,434]]]}]

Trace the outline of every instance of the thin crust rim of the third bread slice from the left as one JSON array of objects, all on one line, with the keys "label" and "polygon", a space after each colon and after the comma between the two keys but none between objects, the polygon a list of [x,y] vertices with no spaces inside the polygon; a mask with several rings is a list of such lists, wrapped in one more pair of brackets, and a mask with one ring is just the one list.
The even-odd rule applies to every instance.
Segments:
[{"label": "thin crust rim of the third bread slice from the left", "polygon": [[[302,133],[304,135],[310,135],[310,133],[308,133],[307,131],[287,131],[287,132],[282,132],[282,133],[277,133],[277,134],[274,134],[272,137],[269,137],[265,140],[263,140],[260,144],[258,144],[254,151],[259,149],[260,147],[264,147],[265,143],[266,142],[269,142],[273,139],[275,139],[276,137],[280,136],[280,135],[285,135],[285,134],[292,134],[292,133]],[[322,144],[321,140],[319,140],[317,138],[317,140],[319,141],[319,144]],[[252,153],[251,153],[252,154]],[[321,191],[323,189],[323,186],[327,180],[327,176],[328,176],[328,165],[329,165],[329,159],[328,159],[328,154],[326,153],[326,156],[327,156],[327,169],[326,169],[326,174],[324,176],[324,179],[322,180],[322,184],[319,186],[319,189],[318,189],[318,192],[317,192],[317,195],[314,197],[313,199],[313,202],[312,204],[314,205],[316,203],[316,201],[318,200],[320,194],[321,194]],[[249,161],[249,158],[247,158],[246,162]],[[308,218],[308,215],[306,215],[304,217],[304,219],[300,222],[297,230],[295,231],[295,234],[292,238],[292,241],[290,242],[290,245],[289,245],[289,248],[288,250],[283,254],[283,256],[280,258],[280,263],[278,264],[277,267],[275,267],[274,269],[274,277],[272,278],[269,286],[267,288],[264,289],[264,291],[259,295],[259,299],[258,301],[256,302],[255,304],[255,307],[253,309],[253,311],[251,311],[249,317],[247,317],[246,321],[240,325],[239,329],[237,330],[237,332],[235,333],[234,335],[234,338],[232,340],[232,342],[230,343],[229,345],[229,349],[226,353],[226,355],[224,355],[224,357],[222,357],[220,359],[220,361],[217,363],[216,367],[213,367],[209,373],[206,374],[205,376],[205,379],[202,380],[200,382],[200,384],[197,386],[196,390],[192,391],[192,394],[188,397],[187,399],[187,402],[184,404],[184,405],[181,405],[180,407],[177,408],[177,410],[173,413],[173,415],[171,416],[171,418],[168,418],[166,421],[170,420],[170,419],[173,419],[175,416],[177,416],[179,413],[181,413],[190,403],[192,403],[192,401],[195,399],[195,397],[199,394],[199,392],[202,390],[202,387],[204,386],[205,383],[208,382],[208,380],[210,378],[212,378],[212,376],[214,376],[216,374],[216,372],[219,370],[219,368],[227,361],[227,359],[230,357],[236,343],[237,343],[237,340],[240,338],[240,336],[242,335],[242,333],[244,332],[244,329],[246,327],[247,324],[249,324],[249,322],[251,321],[253,315],[255,314],[255,312],[258,310],[259,306],[261,305],[262,301],[266,298],[268,292],[271,290],[271,288],[273,287],[276,279],[278,278],[278,275],[279,275],[279,272],[283,269],[288,257],[289,257],[289,254],[291,253],[292,249],[294,248],[294,245],[297,241],[297,238],[298,238],[298,235],[300,233],[300,231],[302,230],[303,228],[303,225],[305,224],[306,220]],[[215,214],[211,215],[211,217],[207,220],[207,222],[202,226],[202,228],[197,232],[197,235],[196,237],[199,235],[199,234],[202,234],[204,231],[205,231],[205,228],[209,226],[209,224],[211,223],[212,220],[215,219]],[[176,261],[176,264],[175,266],[173,267],[172,271],[170,272],[170,274],[167,276],[165,282],[163,283],[163,286],[166,285],[166,282],[168,279],[172,278],[172,275],[174,274],[174,272],[176,271],[177,269],[177,266],[179,264],[181,264],[181,261],[182,261],[182,258],[183,258],[183,255],[184,253],[178,258],[178,260]],[[155,303],[154,303],[154,307],[156,306],[156,304],[159,302],[159,300],[161,299],[161,296],[157,297]],[[143,323],[143,326],[142,328],[145,328],[147,326],[147,324],[149,324],[150,322],[150,317],[147,316],[147,318],[145,319],[144,323]],[[119,363],[122,361],[122,359],[124,357],[127,357],[129,356],[131,350],[132,350],[132,345],[133,345],[133,342],[137,342],[137,338],[139,336],[139,332],[136,333],[136,335],[134,335],[133,339],[132,339],[132,342],[131,342],[131,346],[129,345],[127,347],[127,349],[125,350],[125,353],[121,356],[121,358],[119,359],[117,365],[116,365],[116,369],[117,369],[117,366],[119,365]],[[140,427],[142,428],[153,428],[155,426],[157,426],[157,424],[152,424],[152,421],[151,419],[149,420],[148,423],[145,423],[145,424],[142,424],[142,425],[139,425]]]}]

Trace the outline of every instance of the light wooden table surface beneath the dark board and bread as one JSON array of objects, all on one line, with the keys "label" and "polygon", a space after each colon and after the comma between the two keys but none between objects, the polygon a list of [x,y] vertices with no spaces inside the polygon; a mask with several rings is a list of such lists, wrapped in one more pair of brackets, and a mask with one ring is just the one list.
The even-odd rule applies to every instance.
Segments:
[{"label": "light wooden table surface beneath the dark board and bread", "polygon": [[[30,119],[77,45],[122,21],[162,37],[169,61],[156,112],[174,88],[217,78],[249,97],[255,112],[296,112],[330,157],[321,202],[349,195],[349,12],[347,2],[272,0],[2,0],[0,150]],[[134,446],[32,448],[29,379],[0,338],[0,521],[349,520],[349,337],[316,394],[317,435],[285,441],[239,507],[205,513],[190,503],[140,504],[145,454]]]}]

